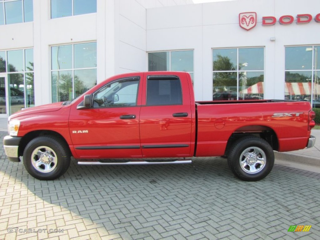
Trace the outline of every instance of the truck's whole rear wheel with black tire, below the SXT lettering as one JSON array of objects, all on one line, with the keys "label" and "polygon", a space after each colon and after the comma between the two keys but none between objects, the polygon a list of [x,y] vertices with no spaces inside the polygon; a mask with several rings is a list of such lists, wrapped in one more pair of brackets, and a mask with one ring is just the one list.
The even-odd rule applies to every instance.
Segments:
[{"label": "truck's whole rear wheel with black tire, below the SXT lettering", "polygon": [[245,181],[265,178],[272,170],[274,162],[275,155],[270,144],[254,136],[236,140],[228,154],[231,171],[237,178]]}]

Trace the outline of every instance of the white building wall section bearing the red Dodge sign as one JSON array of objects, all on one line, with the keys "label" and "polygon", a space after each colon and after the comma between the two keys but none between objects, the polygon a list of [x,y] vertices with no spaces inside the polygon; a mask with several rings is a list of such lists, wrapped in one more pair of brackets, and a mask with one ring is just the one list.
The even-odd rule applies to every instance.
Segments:
[{"label": "white building wall section bearing the red Dodge sign", "polygon": [[[262,26],[262,16],[315,17],[319,7],[318,0],[237,0],[147,9],[147,52],[194,49],[196,100],[212,100],[212,48],[265,47],[265,98],[284,99],[285,46],[320,44],[320,23]],[[257,26],[240,28],[241,12],[257,12]]]}]

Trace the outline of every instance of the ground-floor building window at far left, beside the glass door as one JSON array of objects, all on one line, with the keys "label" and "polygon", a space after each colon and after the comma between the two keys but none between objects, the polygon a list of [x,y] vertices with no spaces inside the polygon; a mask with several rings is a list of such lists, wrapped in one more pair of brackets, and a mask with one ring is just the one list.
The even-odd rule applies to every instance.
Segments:
[{"label": "ground-floor building window at far left, beside the glass door", "polygon": [[0,103],[6,105],[7,88],[9,115],[21,108],[34,106],[33,49],[0,52],[0,73],[4,73],[8,79],[7,84],[4,81],[0,82]]}]

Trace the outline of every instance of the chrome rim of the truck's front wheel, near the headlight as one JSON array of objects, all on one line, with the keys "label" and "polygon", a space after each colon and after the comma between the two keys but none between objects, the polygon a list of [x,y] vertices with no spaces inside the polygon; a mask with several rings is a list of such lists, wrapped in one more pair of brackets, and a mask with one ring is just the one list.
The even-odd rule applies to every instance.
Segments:
[{"label": "chrome rim of the truck's front wheel, near the headlight", "polygon": [[52,172],[57,166],[57,155],[47,146],[40,146],[33,150],[31,154],[32,166],[38,172]]}]

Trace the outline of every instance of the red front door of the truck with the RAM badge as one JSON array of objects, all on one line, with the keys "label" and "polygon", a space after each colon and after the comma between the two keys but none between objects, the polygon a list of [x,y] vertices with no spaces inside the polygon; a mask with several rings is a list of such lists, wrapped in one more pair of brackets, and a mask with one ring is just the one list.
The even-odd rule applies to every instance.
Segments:
[{"label": "red front door of the truck with the RAM badge", "polygon": [[[141,157],[140,74],[116,79],[92,95],[89,109],[70,114],[70,135],[78,158]],[[142,74],[141,74],[142,76]]]}]

